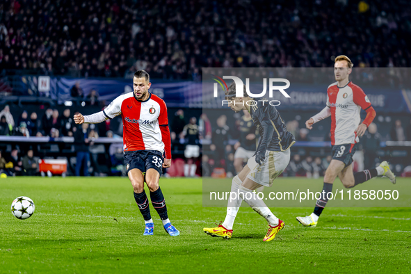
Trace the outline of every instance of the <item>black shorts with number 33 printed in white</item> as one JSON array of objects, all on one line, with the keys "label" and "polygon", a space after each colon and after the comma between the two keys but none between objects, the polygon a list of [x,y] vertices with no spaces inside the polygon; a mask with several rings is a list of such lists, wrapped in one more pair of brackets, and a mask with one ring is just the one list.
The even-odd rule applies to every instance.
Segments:
[{"label": "black shorts with number 33 printed in white", "polygon": [[137,168],[145,173],[150,168],[157,170],[160,175],[163,173],[163,154],[156,150],[136,150],[134,152],[124,152],[124,164],[126,171]]}]

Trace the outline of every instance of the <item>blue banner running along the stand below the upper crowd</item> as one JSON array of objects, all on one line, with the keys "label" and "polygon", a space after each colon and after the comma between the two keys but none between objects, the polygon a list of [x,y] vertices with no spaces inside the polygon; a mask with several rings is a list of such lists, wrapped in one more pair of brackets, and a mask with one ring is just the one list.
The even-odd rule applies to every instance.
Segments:
[{"label": "blue banner running along the stand below the upper crowd", "polygon": [[[37,93],[37,76],[21,76],[19,83],[27,93]],[[83,95],[87,96],[92,89],[97,90],[99,100],[107,103],[124,92],[131,92],[131,79],[73,79],[51,77],[50,91],[47,96],[64,104],[72,100],[71,89],[79,82]],[[281,92],[273,92],[270,100],[281,102],[279,109],[319,111],[325,107],[328,86],[321,84],[301,84],[291,82],[286,98]],[[373,108],[379,113],[410,113],[410,103],[403,90],[395,88],[362,87],[368,95]],[[250,83],[251,90],[263,90],[262,83]],[[29,91],[30,90],[30,91]],[[35,91],[35,92],[33,92]],[[164,99],[169,107],[182,108],[222,108],[221,100],[224,99],[223,92],[218,97],[213,97],[212,83],[198,83],[193,81],[165,81],[152,79],[150,92]]]}]

